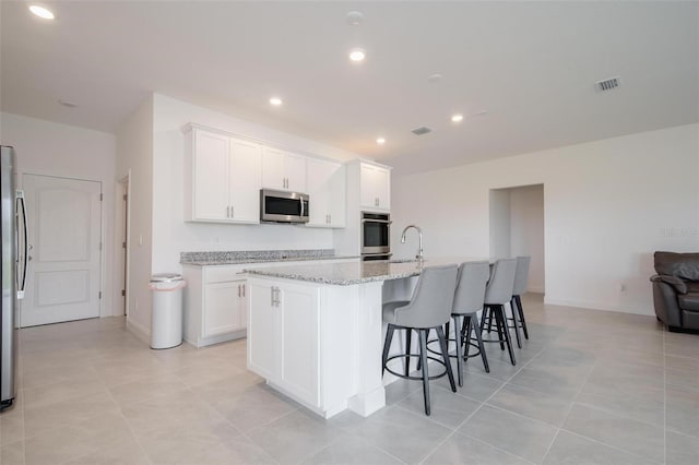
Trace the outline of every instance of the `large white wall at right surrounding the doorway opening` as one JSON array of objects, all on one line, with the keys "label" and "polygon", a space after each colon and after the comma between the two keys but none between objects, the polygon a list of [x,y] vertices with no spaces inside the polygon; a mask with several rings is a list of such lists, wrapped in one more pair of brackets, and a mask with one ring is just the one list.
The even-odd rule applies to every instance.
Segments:
[{"label": "large white wall at right surrounding the doorway opening", "polygon": [[652,314],[653,251],[699,249],[698,134],[688,124],[395,176],[394,224],[423,226],[427,257],[488,255],[489,190],[543,183],[546,302]]}]

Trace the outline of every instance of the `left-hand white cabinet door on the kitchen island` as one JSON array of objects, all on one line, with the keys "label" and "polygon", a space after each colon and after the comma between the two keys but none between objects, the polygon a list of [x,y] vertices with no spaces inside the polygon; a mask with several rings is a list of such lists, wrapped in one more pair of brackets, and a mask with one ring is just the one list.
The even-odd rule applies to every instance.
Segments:
[{"label": "left-hand white cabinet door on the kitchen island", "polygon": [[279,308],[271,283],[251,281],[248,285],[248,368],[262,378],[276,381],[280,347]]}]

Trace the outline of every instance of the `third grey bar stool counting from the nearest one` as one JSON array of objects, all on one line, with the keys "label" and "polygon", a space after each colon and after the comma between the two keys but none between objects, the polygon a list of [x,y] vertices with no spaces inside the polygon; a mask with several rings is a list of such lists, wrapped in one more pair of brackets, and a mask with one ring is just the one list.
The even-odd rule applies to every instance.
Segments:
[{"label": "third grey bar stool counting from the nearest one", "polygon": [[[514,350],[510,341],[510,330],[507,325],[507,315],[505,314],[505,305],[509,303],[512,298],[512,286],[514,285],[514,273],[517,271],[517,259],[502,259],[495,262],[493,274],[485,290],[485,309],[481,319],[481,331],[483,331],[486,318],[488,326],[493,320],[497,325],[497,339],[483,339],[486,343],[499,343],[500,349],[505,350],[505,345],[510,354],[510,361],[517,365],[514,360]],[[489,332],[489,327],[488,327]]]}]

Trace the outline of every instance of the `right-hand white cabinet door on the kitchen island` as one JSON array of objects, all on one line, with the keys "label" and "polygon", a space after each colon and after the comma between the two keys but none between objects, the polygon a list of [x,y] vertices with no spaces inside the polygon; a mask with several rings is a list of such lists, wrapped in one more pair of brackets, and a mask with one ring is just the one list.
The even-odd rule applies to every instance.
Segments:
[{"label": "right-hand white cabinet door on the kitchen island", "polygon": [[280,386],[310,405],[320,405],[318,290],[280,286]]}]

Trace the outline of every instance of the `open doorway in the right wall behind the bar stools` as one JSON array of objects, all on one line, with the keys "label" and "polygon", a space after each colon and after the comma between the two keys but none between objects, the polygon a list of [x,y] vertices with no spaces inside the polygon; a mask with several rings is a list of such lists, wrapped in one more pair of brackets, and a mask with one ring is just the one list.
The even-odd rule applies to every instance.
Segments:
[{"label": "open doorway in the right wall behind the bar stools", "polygon": [[490,257],[529,255],[529,293],[545,293],[544,184],[490,189]]}]

